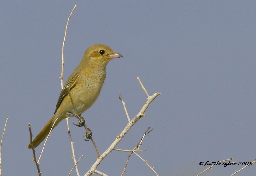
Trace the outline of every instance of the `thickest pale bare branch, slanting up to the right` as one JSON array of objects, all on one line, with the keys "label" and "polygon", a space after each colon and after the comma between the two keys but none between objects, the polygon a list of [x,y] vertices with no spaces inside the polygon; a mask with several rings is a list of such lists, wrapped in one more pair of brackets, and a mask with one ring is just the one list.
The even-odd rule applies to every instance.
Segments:
[{"label": "thickest pale bare branch, slanting up to the right", "polygon": [[100,157],[97,158],[95,163],[92,165],[92,167],[89,169],[88,172],[84,174],[84,176],[89,176],[94,173],[100,162],[116,147],[118,142],[120,142],[124,135],[132,128],[132,126],[143,116],[145,116],[144,112],[148,108],[149,104],[158,96],[160,93],[154,93],[152,96],[148,97],[147,102],[144,104],[144,106],[141,108],[140,112],[125,126],[124,130],[116,137],[114,142],[106,149],[105,152],[103,152]]}]

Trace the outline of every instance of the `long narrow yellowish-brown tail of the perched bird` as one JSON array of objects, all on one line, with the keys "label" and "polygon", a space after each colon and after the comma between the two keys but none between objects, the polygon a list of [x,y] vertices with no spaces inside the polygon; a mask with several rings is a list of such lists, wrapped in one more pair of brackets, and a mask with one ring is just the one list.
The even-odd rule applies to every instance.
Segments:
[{"label": "long narrow yellowish-brown tail of the perched bird", "polygon": [[[56,114],[55,114],[56,115]],[[52,125],[54,123],[55,120],[55,115],[52,117],[52,119],[44,126],[44,128],[40,131],[39,134],[37,134],[37,136],[35,137],[35,139],[32,141],[32,145],[34,148],[36,148],[39,144],[41,144],[42,141],[44,141],[44,138],[46,138],[46,136],[49,134]],[[58,118],[58,120],[55,122],[53,128],[55,128],[55,126],[58,125],[58,123],[60,123],[60,121],[63,119]],[[52,129],[53,129],[52,128]],[[32,146],[31,144],[28,145],[28,148],[31,149]]]}]

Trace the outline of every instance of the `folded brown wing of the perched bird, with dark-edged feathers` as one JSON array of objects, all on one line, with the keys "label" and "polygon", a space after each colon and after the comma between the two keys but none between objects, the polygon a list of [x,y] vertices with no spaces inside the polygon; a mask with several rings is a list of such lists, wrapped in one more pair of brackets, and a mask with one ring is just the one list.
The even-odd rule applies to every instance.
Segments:
[{"label": "folded brown wing of the perched bird, with dark-edged feathers", "polygon": [[56,113],[57,109],[60,107],[60,104],[63,101],[63,99],[65,98],[65,96],[68,95],[68,91],[70,91],[76,85],[79,76],[80,76],[80,72],[73,72],[69,76],[69,78],[68,78],[67,82],[65,83],[62,91],[60,92],[60,96],[59,96],[58,102],[56,104],[56,109],[55,109],[54,114]]}]

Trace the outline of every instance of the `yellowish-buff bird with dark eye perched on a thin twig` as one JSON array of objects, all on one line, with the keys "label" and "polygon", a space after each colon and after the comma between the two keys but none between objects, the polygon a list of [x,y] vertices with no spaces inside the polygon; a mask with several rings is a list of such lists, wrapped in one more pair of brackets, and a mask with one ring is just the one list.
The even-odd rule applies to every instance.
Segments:
[{"label": "yellowish-buff bird with dark eye perched on a thin twig", "polygon": [[[97,100],[106,78],[106,66],[108,62],[113,58],[119,57],[123,56],[102,44],[94,44],[85,51],[80,64],[76,67],[74,72],[71,73],[60,93],[52,119],[32,141],[34,148],[49,134],[57,117],[58,119],[53,128],[57,126],[61,120],[70,117],[70,114],[76,114],[70,100],[69,91],[79,116],[92,106]],[[31,144],[29,144],[28,148],[31,147]]]}]

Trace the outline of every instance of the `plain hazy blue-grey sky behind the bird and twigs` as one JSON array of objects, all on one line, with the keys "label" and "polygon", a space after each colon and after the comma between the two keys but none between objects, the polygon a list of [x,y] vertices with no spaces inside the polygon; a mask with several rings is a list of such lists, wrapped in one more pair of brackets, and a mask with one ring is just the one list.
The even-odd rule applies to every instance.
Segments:
[{"label": "plain hazy blue-grey sky behind the bird and twigs", "polygon": [[[254,161],[256,124],[255,1],[1,1],[0,134],[9,116],[2,146],[2,173],[37,175],[29,144],[51,119],[60,95],[61,47],[64,83],[94,43],[110,46],[123,58],[107,65],[96,103],[82,114],[100,153],[127,124],[118,91],[134,117],[148,93],[159,95],[117,145],[131,150],[148,127],[139,154],[159,175],[197,175],[203,161],[235,157]],[[80,175],[96,160],[84,129],[72,125]],[[40,168],[43,175],[68,175],[73,167],[66,122],[51,133]],[[42,145],[36,148],[39,156]],[[121,175],[129,153],[113,151],[99,165]],[[214,166],[203,175],[231,175],[243,166]],[[135,155],[125,175],[155,175]],[[256,165],[236,175],[255,175]],[[73,171],[73,175],[76,172]]]}]

